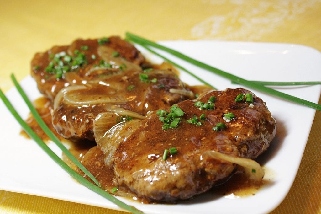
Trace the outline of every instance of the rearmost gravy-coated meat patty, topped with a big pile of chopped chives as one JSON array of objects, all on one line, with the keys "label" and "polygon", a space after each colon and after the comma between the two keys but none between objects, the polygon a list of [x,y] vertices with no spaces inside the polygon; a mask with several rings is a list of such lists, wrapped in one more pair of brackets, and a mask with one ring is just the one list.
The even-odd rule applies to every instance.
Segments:
[{"label": "rearmost gravy-coated meat patty, topped with a big pile of chopped chives", "polygon": [[39,91],[53,101],[63,87],[126,69],[139,70],[144,62],[143,55],[119,37],[78,39],[70,46],[37,53],[31,61],[31,75]]}]

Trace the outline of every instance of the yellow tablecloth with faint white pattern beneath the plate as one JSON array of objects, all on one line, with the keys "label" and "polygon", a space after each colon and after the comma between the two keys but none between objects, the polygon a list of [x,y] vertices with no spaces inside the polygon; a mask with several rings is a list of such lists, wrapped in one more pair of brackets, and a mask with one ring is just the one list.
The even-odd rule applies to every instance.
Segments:
[{"label": "yellow tablecloth with faint white pattern beneath the plate", "polygon": [[[4,91],[13,86],[10,73],[18,80],[30,73],[35,52],[79,37],[130,31],[151,40],[287,42],[321,50],[320,0],[1,1],[0,16]],[[297,177],[273,213],[321,213],[320,121],[318,111]],[[0,212],[122,213],[6,191],[0,191]]]}]

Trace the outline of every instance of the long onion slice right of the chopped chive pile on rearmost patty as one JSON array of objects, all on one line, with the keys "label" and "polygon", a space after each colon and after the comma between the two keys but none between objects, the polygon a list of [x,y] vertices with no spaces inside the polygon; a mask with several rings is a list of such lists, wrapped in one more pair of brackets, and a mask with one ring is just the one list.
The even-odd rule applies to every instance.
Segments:
[{"label": "long onion slice right of the chopped chive pile on rearmost patty", "polygon": [[126,65],[126,70],[142,70],[142,68],[122,57],[113,57],[115,49],[108,46],[99,46],[97,49],[98,55],[105,60],[107,63],[111,64],[115,68],[119,68],[121,65]]}]

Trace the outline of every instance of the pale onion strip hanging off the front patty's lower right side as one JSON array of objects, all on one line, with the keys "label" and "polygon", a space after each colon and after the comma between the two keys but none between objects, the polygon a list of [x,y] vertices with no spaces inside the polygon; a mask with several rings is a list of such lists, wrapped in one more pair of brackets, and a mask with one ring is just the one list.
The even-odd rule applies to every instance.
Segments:
[{"label": "pale onion strip hanging off the front patty's lower right side", "polygon": [[226,154],[222,154],[220,152],[205,151],[203,153],[204,157],[211,157],[214,159],[224,160],[233,164],[240,165],[244,168],[247,177],[253,182],[261,182],[264,176],[264,170],[261,165],[259,165],[256,161],[243,157],[234,157]]}]

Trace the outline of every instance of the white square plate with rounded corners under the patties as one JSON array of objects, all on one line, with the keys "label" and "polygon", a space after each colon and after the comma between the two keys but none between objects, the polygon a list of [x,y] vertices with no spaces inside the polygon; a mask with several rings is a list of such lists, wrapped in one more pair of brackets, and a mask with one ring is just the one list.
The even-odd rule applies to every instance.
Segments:
[{"label": "white square plate with rounded corners under the patties", "polygon": [[[305,46],[221,41],[164,41],[160,43],[248,80],[321,81],[321,54]],[[159,58],[144,50],[142,52],[152,61],[160,62]],[[220,90],[227,87],[239,87],[208,71],[167,54],[164,55]],[[29,70],[28,66],[26,70]],[[180,77],[189,85],[200,85],[193,77],[183,72]],[[40,96],[30,76],[26,77],[21,85],[31,100]],[[317,103],[321,86],[274,88]],[[277,207],[288,193],[296,176],[315,110],[255,90],[251,91],[266,102],[272,116],[277,121],[275,139],[268,151],[257,160],[269,169],[265,177],[270,180],[269,185],[264,186],[254,196],[244,198],[217,197],[213,193],[207,193],[193,200],[173,205],[140,204],[123,198],[120,200],[145,213],[266,213]],[[26,118],[29,110],[16,89],[11,89],[6,95],[20,115]],[[2,102],[0,102],[0,111],[2,112],[0,168],[2,172],[5,172],[0,176],[0,189],[119,209],[113,203],[75,182],[35,142],[22,137],[19,134],[21,129],[19,124]],[[61,151],[53,143],[49,143],[49,147],[61,156]]]}]

